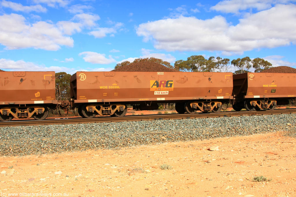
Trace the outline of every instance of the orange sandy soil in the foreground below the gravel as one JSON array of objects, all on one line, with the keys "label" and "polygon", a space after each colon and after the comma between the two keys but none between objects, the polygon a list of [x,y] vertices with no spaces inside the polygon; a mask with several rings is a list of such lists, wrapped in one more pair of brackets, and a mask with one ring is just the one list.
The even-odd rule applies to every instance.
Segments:
[{"label": "orange sandy soil in the foreground below the gravel", "polygon": [[[0,157],[0,195],[293,197],[295,143],[295,138],[278,132]],[[217,146],[218,150],[207,150]],[[164,164],[172,168],[161,169]],[[271,180],[252,181],[261,175]]]}]

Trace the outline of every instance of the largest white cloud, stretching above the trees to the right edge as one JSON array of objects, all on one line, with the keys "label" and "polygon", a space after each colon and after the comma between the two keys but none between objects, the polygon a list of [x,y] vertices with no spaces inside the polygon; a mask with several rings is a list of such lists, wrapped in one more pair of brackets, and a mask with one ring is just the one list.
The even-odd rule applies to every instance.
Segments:
[{"label": "largest white cloud, stretching above the trees to the right edge", "polygon": [[211,19],[179,17],[142,23],[136,29],[144,42],[152,40],[167,51],[224,51],[243,53],[255,48],[296,44],[296,5],[278,4],[247,15],[238,25],[222,16]]}]

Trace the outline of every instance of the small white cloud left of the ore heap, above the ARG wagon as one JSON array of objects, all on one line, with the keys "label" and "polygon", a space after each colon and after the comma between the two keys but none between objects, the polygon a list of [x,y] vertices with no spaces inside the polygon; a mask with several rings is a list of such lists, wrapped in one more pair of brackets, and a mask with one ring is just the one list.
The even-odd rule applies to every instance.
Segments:
[{"label": "small white cloud left of the ore heap, above the ARG wagon", "polygon": [[91,51],[84,51],[82,53],[79,53],[79,56],[84,56],[83,59],[86,62],[90,62],[93,64],[110,64],[113,62],[116,62],[115,59],[113,59],[111,56],[109,58],[106,58],[105,54],[91,52]]}]

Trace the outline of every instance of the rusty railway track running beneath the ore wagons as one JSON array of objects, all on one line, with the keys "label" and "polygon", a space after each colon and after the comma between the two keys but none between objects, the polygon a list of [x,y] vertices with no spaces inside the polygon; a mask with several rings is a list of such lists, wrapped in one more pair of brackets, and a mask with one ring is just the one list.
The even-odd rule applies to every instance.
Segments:
[{"label": "rusty railway track running beneath the ore wagons", "polygon": [[217,118],[246,115],[274,115],[296,113],[296,108],[260,110],[260,111],[227,111],[220,113],[194,113],[194,114],[153,114],[153,115],[129,115],[123,117],[95,117],[95,118],[52,118],[42,121],[36,120],[17,120],[0,122],[0,127],[5,126],[31,126],[31,125],[54,125],[54,124],[83,124],[83,123],[104,123],[104,122],[123,122],[123,121],[153,121],[153,120],[172,120],[172,119],[192,119],[192,118]]}]

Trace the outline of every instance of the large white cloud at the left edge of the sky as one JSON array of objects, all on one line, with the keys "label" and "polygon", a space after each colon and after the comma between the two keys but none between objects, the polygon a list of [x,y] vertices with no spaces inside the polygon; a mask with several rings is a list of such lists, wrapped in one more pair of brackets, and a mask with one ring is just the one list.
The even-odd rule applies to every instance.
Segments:
[{"label": "large white cloud at the left edge of the sky", "polygon": [[73,39],[63,35],[51,23],[39,21],[29,24],[19,14],[0,16],[0,43],[6,49],[36,48],[56,51],[61,45],[73,47]]}]

